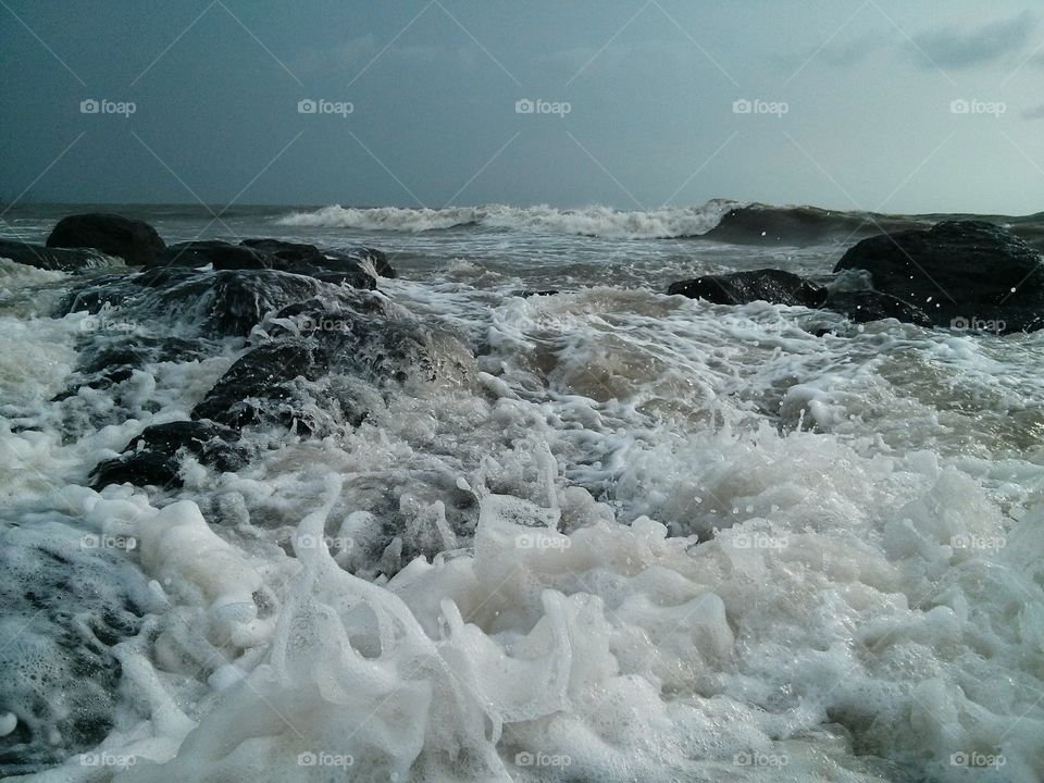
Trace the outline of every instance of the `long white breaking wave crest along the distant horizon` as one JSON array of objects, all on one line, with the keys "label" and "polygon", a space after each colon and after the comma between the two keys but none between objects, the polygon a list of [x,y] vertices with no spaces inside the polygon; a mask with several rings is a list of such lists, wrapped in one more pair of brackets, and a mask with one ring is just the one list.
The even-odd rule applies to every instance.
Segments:
[{"label": "long white breaking wave crest along the distant horizon", "polygon": [[623,212],[608,207],[555,209],[505,204],[447,209],[357,209],[333,206],[312,212],[293,212],[278,222],[291,226],[401,232],[483,226],[551,234],[657,239],[704,234],[718,224],[722,213],[736,206],[735,201],[714,200],[701,207],[663,207],[648,212]]}]

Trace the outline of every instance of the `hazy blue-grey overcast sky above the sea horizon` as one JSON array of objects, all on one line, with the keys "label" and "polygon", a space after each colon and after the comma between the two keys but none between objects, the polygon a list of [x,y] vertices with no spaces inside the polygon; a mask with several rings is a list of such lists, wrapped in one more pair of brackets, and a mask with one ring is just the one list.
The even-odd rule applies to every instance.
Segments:
[{"label": "hazy blue-grey overcast sky above the sea horizon", "polygon": [[1018,0],[0,0],[0,51],[8,202],[1044,210]]}]

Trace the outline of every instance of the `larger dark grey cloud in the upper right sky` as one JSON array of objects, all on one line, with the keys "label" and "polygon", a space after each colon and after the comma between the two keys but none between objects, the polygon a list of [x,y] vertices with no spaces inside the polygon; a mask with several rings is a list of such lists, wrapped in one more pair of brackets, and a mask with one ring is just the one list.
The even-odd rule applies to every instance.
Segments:
[{"label": "larger dark grey cloud in the upper right sky", "polygon": [[1012,18],[978,27],[947,25],[924,30],[913,36],[913,42],[931,60],[920,58],[923,67],[959,70],[995,62],[1021,50],[1035,28],[1034,14],[1023,11]]}]

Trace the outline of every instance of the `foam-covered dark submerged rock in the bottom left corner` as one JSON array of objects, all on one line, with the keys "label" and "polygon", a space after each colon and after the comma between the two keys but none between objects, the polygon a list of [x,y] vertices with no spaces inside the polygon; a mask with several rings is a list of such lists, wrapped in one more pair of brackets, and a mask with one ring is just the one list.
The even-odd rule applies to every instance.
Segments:
[{"label": "foam-covered dark submerged rock in the bottom left corner", "polygon": [[14,718],[0,778],[61,763],[110,733],[122,676],[111,648],[157,609],[120,544],[54,521],[0,521],[0,714]]}]

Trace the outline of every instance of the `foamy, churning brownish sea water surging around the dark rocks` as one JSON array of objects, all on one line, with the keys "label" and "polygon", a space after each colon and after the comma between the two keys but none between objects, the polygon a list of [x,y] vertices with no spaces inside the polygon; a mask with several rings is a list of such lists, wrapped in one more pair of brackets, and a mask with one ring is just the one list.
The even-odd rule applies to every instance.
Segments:
[{"label": "foamy, churning brownish sea water surging around the dark rocks", "polygon": [[[73,275],[0,260],[0,774],[1044,780],[1044,332],[663,294],[829,282],[937,216],[112,211],[167,243],[381,248],[456,370],[358,426],[254,432],[236,472],[186,456],[179,489],[97,493],[245,340],[52,318]],[[1044,221],[995,220],[1040,248]],[[91,351],[171,335],[194,352],[80,385]]]}]

